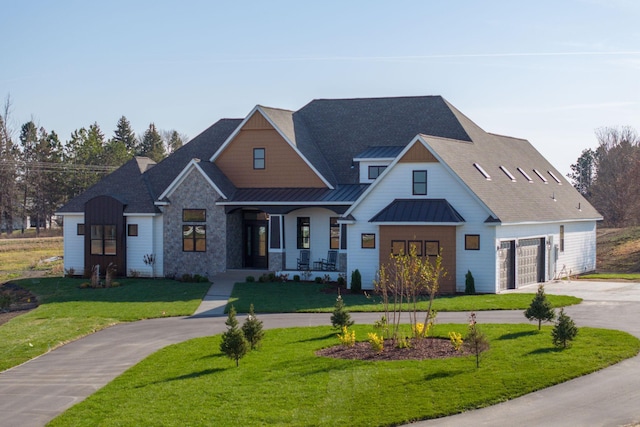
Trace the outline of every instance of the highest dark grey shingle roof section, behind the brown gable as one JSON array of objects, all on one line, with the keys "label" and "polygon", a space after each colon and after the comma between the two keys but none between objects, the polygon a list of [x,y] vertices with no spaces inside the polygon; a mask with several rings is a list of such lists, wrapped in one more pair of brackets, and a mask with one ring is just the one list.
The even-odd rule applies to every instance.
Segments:
[{"label": "highest dark grey shingle roof section, behind the brown gable", "polygon": [[334,185],[358,182],[351,161],[370,147],[404,147],[420,133],[471,141],[440,96],[319,99],[293,121],[298,149]]}]

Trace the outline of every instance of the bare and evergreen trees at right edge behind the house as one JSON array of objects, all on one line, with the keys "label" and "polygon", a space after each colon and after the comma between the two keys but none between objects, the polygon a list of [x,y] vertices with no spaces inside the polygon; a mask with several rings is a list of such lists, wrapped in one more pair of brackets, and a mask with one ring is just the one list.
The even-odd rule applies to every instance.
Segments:
[{"label": "bare and evergreen trees at right edge behind the house", "polygon": [[608,227],[640,224],[640,136],[629,126],[596,130],[598,147],[583,150],[568,174]]}]

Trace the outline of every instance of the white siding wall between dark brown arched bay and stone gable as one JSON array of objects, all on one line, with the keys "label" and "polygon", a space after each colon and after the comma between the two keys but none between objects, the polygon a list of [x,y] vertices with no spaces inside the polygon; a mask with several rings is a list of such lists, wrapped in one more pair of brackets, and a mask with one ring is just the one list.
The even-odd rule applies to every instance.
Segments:
[{"label": "white siding wall between dark brown arched bay and stone gable", "polygon": [[152,266],[144,263],[144,256],[154,254],[156,256],[155,275],[159,276],[162,270],[162,254],[158,254],[154,248],[156,233],[154,230],[154,217],[152,216],[127,216],[127,225],[137,224],[138,235],[127,235],[127,275],[137,272],[142,277],[152,277]]}]

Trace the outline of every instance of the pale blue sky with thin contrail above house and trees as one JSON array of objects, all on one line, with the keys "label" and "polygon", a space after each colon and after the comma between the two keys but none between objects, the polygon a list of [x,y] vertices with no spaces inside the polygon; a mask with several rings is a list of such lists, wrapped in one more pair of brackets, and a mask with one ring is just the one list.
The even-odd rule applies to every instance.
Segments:
[{"label": "pale blue sky with thin contrail above house and trees", "polygon": [[256,105],[442,95],[562,173],[640,130],[640,2],[0,0],[0,96],[63,141],[126,116],[194,137]]}]

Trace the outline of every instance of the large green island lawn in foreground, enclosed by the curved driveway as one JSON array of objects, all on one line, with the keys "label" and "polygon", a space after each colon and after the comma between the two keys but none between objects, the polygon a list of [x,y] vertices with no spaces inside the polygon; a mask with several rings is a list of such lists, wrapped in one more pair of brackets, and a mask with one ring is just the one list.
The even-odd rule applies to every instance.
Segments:
[{"label": "large green island lawn in foreground, enclosed by the curved driveway", "polygon": [[[166,347],[126,371],[51,426],[397,425],[512,399],[632,357],[640,341],[581,328],[557,350],[550,329],[480,325],[491,349],[473,356],[364,362],[315,356],[336,345],[329,327],[267,331],[240,367],[219,351],[220,336]],[[436,334],[466,325],[437,325]],[[358,339],[370,326],[356,326]]]}]

